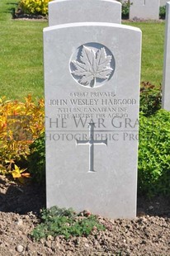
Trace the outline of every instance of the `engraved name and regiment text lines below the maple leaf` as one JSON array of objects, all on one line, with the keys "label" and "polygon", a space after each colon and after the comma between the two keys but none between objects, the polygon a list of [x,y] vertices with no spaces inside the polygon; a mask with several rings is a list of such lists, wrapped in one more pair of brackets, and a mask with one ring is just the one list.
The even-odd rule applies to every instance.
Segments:
[{"label": "engraved name and regiment text lines below the maple leaf", "polygon": [[56,118],[126,118],[136,99],[117,98],[115,92],[70,92],[67,98],[50,99],[49,105],[54,108]]}]

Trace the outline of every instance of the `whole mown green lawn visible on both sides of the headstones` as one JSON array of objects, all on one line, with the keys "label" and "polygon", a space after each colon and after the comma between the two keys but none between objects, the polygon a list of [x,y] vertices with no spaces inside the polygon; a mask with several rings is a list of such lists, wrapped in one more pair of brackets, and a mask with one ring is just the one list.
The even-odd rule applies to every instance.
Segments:
[{"label": "whole mown green lawn visible on both sides of the headstones", "polygon": [[[47,21],[12,20],[17,1],[0,0],[0,97],[44,96],[42,31]],[[127,22],[125,22],[127,24]],[[143,31],[141,81],[159,85],[163,77],[162,23],[128,23]]]}]

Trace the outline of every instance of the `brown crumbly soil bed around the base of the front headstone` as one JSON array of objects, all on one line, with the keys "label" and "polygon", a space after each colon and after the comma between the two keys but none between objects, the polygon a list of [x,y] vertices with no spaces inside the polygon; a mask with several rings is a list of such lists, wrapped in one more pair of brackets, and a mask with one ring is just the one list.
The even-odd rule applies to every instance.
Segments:
[{"label": "brown crumbly soil bed around the base of the front headstone", "polygon": [[67,241],[59,236],[34,242],[31,230],[45,206],[45,188],[21,186],[0,176],[0,255],[170,255],[170,200],[138,198],[134,220],[109,220],[99,216],[105,231]]}]

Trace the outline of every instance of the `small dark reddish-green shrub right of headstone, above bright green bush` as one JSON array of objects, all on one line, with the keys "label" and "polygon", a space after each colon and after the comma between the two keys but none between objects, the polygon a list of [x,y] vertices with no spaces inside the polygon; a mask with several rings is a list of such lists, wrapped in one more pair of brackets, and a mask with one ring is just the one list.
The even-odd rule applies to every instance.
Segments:
[{"label": "small dark reddish-green shrub right of headstone, above bright green bush", "polygon": [[142,83],[140,88],[140,111],[144,116],[150,116],[161,108],[161,89],[153,84]]}]

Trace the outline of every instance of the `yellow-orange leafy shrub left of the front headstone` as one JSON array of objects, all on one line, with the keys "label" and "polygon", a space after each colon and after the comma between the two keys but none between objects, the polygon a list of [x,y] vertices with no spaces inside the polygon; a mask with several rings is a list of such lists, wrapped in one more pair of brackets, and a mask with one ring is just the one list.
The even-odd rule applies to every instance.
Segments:
[{"label": "yellow-orange leafy shrub left of the front headstone", "polygon": [[27,159],[29,146],[45,131],[44,118],[43,100],[36,105],[31,96],[25,102],[0,99],[0,173],[24,176],[17,163]]}]

